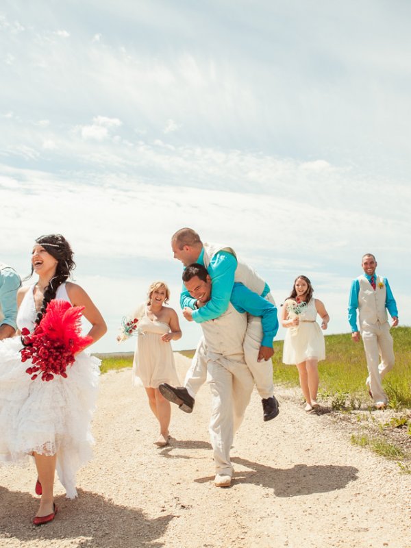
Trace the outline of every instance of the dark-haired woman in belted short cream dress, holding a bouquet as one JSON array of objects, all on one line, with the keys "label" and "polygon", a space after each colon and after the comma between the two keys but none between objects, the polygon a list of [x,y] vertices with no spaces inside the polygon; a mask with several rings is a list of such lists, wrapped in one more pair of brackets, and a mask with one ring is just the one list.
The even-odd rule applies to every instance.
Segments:
[{"label": "dark-haired woman in belted short cream dress, holding a bouquet", "polygon": [[[287,327],[284,339],[284,364],[297,365],[299,382],[306,399],[307,412],[319,408],[316,401],[319,388],[319,360],[325,359],[324,335],[329,315],[319,299],[313,299],[311,282],[306,276],[295,279],[290,297],[282,307],[282,325]],[[316,323],[319,314],[321,329]]]}]

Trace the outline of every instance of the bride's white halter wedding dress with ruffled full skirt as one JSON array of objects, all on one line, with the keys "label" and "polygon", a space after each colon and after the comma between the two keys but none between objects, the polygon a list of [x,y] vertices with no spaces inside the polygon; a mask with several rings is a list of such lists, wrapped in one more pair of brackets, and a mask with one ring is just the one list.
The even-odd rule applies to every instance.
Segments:
[{"label": "bride's white halter wedding dress with ruffled full skirt", "polygon": [[[56,299],[70,302],[66,284]],[[33,331],[36,319],[34,286],[18,309],[18,329]],[[77,496],[75,474],[92,456],[90,432],[99,382],[99,364],[83,351],[60,375],[32,380],[26,369],[31,360],[21,362],[23,348],[19,336],[0,341],[0,464],[25,460],[33,451],[51,456],[57,453],[57,472],[66,497]]]}]

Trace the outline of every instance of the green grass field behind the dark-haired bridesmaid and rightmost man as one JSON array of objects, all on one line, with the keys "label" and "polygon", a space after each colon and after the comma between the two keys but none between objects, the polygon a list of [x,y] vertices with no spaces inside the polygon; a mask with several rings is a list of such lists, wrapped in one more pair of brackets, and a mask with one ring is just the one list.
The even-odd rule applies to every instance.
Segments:
[{"label": "green grass field behind the dark-haired bridesmaid and rightmost man", "polygon": [[[390,407],[411,408],[411,327],[392,329],[395,366],[384,379]],[[274,343],[274,379],[277,383],[298,386],[297,368],[282,364],[283,343]],[[334,408],[359,408],[371,401],[365,387],[367,376],[364,347],[353,343],[351,334],[325,336],[326,360],[319,363],[320,392],[335,401]]]}]

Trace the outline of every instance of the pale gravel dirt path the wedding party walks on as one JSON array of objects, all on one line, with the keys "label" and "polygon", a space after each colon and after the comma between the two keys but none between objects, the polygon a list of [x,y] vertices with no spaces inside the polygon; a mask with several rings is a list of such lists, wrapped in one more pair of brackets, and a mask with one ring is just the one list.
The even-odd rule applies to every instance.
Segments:
[{"label": "pale gravel dirt path the wedding party walks on", "polygon": [[[180,378],[188,360],[176,354]],[[31,525],[34,465],[0,468],[1,547],[411,548],[411,479],[397,464],[353,447],[329,417],[303,412],[280,390],[280,414],[262,421],[253,393],[234,440],[231,488],[212,483],[210,391],[195,411],[173,406],[170,447],[153,445],[155,419],[130,371],[101,377],[95,459],[78,475],[79,498]]]}]

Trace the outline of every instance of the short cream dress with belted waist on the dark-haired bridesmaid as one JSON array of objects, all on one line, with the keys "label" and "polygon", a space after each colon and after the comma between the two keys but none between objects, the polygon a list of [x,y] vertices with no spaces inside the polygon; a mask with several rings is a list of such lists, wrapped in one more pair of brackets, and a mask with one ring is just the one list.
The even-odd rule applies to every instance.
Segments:
[{"label": "short cream dress with belted waist on the dark-haired bridesmaid", "polygon": [[[295,317],[292,313],[290,317]],[[300,364],[310,358],[325,360],[325,341],[316,323],[315,299],[311,299],[299,317],[299,325],[288,327],[284,338],[283,363]]]}]

